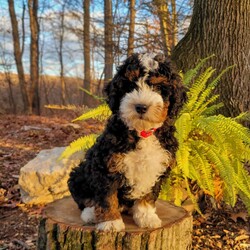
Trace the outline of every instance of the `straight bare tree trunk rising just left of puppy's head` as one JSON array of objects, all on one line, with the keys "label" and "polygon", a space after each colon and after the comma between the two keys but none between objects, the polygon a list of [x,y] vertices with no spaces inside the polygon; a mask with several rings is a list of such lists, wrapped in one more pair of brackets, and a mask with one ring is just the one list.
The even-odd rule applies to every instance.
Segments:
[{"label": "straight bare tree trunk rising just left of puppy's head", "polygon": [[104,82],[107,83],[113,77],[113,18],[112,18],[112,1],[104,0],[104,49],[105,49],[105,69]]}]

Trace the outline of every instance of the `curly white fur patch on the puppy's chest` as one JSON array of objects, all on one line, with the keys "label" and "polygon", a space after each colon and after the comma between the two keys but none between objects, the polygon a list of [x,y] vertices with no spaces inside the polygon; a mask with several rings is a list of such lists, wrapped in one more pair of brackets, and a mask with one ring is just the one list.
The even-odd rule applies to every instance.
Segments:
[{"label": "curly white fur patch on the puppy's chest", "polygon": [[121,172],[132,187],[129,198],[138,199],[150,193],[170,159],[170,153],[161,147],[154,135],[141,139],[136,150],[126,154],[123,161]]}]

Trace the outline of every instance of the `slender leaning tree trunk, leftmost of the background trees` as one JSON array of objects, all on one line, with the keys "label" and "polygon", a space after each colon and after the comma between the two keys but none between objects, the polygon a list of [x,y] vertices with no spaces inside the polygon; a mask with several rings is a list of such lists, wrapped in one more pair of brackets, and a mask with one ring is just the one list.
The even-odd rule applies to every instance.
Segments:
[{"label": "slender leaning tree trunk, leftmost of the background trees", "polygon": [[25,76],[24,76],[24,69],[23,69],[23,62],[22,62],[22,52],[21,52],[21,46],[20,46],[20,40],[19,40],[18,23],[17,23],[17,18],[16,18],[14,1],[8,0],[8,4],[9,4],[11,26],[12,26],[14,57],[15,57],[15,62],[16,62],[16,67],[17,67],[18,80],[19,80],[20,90],[22,94],[24,112],[27,112],[29,101],[28,101],[27,87],[25,83]]}]

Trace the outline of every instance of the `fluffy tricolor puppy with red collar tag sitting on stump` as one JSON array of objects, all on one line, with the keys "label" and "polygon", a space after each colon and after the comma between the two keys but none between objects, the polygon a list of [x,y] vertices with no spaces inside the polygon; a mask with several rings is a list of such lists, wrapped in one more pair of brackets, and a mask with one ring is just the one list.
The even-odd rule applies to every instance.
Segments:
[{"label": "fluffy tricolor puppy with red collar tag sitting on stump", "polygon": [[155,201],[178,147],[174,119],[186,101],[180,76],[163,55],[133,54],[105,87],[112,111],[106,128],[68,181],[83,224],[125,228],[132,212],[142,228],[161,220]]}]

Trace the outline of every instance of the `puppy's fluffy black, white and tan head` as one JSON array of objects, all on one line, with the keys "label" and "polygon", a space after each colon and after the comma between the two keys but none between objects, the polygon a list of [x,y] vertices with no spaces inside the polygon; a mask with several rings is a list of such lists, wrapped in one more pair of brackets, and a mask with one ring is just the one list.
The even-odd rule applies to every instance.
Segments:
[{"label": "puppy's fluffy black, white and tan head", "polygon": [[186,101],[180,76],[163,55],[133,54],[105,88],[107,103],[130,129],[160,127]]}]

